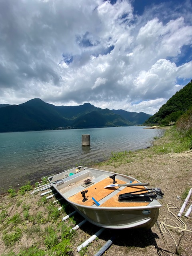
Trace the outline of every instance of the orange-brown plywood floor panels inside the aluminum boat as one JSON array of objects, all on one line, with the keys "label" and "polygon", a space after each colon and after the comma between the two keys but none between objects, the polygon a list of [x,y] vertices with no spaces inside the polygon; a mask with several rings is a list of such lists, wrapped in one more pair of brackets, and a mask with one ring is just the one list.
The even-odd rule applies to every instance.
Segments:
[{"label": "orange-brown plywood floor panels inside the aluminum boat", "polygon": [[[118,180],[116,179],[117,184],[125,184],[125,181]],[[135,181],[135,183],[138,183]],[[71,196],[68,198],[71,202],[74,202],[76,204],[81,204],[83,206],[92,206],[95,204],[94,200],[92,200],[92,197],[96,201],[100,201],[115,190],[117,190],[119,187],[112,187],[112,188],[104,188],[105,186],[112,184],[111,178],[107,177],[104,180],[101,180],[100,182],[97,182],[96,184],[84,188],[81,191],[88,190],[88,192],[85,194],[86,200],[85,202],[82,202],[83,197],[81,194],[81,191],[78,192],[77,194]],[[106,202],[101,204],[99,207],[131,207],[131,206],[146,206],[149,203],[148,202],[118,202],[118,195],[119,194],[124,194],[128,192],[134,192],[137,191],[138,189],[144,189],[144,186],[137,186],[137,187],[125,187],[123,188],[118,194],[114,195],[113,197],[109,198]],[[142,192],[142,190],[141,190]],[[141,193],[138,192],[138,193]]]}]

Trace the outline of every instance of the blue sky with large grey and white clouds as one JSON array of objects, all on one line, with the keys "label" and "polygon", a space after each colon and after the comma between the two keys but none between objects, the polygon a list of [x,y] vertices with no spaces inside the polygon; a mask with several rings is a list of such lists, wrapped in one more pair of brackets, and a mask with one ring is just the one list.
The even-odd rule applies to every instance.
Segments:
[{"label": "blue sky with large grey and white clouds", "polygon": [[0,104],[154,114],[191,79],[191,0],[0,0]]}]

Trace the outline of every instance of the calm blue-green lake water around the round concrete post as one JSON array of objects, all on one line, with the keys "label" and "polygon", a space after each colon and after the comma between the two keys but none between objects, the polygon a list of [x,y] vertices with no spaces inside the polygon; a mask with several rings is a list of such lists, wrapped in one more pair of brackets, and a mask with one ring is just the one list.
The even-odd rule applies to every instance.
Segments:
[{"label": "calm blue-green lake water around the round concrete post", "polygon": [[[0,133],[0,193],[70,167],[101,162],[111,152],[147,148],[163,133],[143,126]],[[90,134],[90,146],[82,146],[82,134]]]}]

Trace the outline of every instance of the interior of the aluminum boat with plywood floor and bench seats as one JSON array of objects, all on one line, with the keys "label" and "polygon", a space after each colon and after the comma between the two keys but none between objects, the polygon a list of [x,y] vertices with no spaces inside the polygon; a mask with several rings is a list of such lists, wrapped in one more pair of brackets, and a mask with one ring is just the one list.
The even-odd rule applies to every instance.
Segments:
[{"label": "interior of the aluminum boat with plywood floor and bench seats", "polygon": [[[129,176],[110,174],[102,170],[77,167],[56,174],[49,178],[62,196],[74,204],[95,207],[136,207],[148,204],[159,204],[151,197],[141,197],[141,194],[150,192],[145,186],[113,186],[105,188],[110,184],[139,183]],[[120,200],[121,195],[126,198]],[[134,194],[134,198],[130,198]],[[140,196],[138,197],[138,195]]]}]

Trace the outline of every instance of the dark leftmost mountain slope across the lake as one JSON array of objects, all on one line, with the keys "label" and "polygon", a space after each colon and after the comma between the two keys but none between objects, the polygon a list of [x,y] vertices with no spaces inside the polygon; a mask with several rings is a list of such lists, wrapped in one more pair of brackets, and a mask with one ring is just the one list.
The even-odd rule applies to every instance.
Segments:
[{"label": "dark leftmost mountain slope across the lake", "polygon": [[21,104],[0,108],[0,120],[0,132],[34,131],[68,126],[68,120],[57,112],[46,109],[44,104],[41,107]]}]

